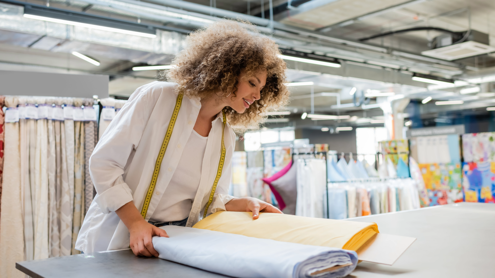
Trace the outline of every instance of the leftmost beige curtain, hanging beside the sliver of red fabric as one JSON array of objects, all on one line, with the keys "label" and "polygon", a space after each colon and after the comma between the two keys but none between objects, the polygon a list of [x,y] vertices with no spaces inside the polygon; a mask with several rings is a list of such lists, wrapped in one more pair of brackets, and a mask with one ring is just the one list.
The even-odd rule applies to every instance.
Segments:
[{"label": "leftmost beige curtain, hanging beside the sliver of red fabric", "polygon": [[[17,97],[5,97],[7,107],[17,106]],[[0,218],[0,277],[24,278],[15,262],[24,260],[21,199],[19,123],[5,123],[5,148]]]}]

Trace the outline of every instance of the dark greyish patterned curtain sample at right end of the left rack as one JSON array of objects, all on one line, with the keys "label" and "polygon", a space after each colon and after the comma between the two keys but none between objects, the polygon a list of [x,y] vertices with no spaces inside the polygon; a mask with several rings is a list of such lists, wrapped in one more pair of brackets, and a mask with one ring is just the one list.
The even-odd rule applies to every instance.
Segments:
[{"label": "dark greyish patterned curtain sample at right end of the left rack", "polygon": [[[84,109],[94,109],[93,99],[85,98]],[[84,122],[84,202],[85,202],[85,212],[90,208],[91,202],[94,197],[95,186],[90,177],[90,156],[95,149],[95,126],[96,121],[86,121]],[[84,220],[84,219],[83,219]]]}]

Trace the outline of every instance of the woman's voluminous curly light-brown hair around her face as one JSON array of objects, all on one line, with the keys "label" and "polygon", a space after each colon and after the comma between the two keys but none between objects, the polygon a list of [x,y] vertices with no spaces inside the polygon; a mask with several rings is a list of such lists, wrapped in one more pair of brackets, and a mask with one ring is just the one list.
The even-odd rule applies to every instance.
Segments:
[{"label": "woman's voluminous curly light-brown hair around her face", "polygon": [[265,112],[280,110],[288,103],[286,63],[279,54],[273,40],[246,22],[221,20],[188,36],[185,48],[172,61],[177,67],[164,74],[168,81],[179,84],[177,92],[187,96],[207,98],[214,92],[223,97],[232,92],[235,97],[241,71],[249,78],[266,69],[260,99],[242,114],[225,108],[229,124],[242,134],[258,129],[266,119]]}]

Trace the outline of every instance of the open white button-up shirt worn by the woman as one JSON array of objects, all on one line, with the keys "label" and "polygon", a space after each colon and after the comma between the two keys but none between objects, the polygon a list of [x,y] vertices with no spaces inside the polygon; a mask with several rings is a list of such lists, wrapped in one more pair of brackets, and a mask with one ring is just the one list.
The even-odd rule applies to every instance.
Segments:
[{"label": "open white button-up shirt worn by the woman", "polygon": [[[140,211],[143,207],[156,158],[177,99],[175,86],[173,83],[155,81],[138,88],[103,133],[90,157],[90,174],[97,195],[86,213],[76,249],[91,253],[129,247],[129,231],[115,210],[130,201]],[[161,163],[155,192],[165,192],[170,183],[184,149],[182,146],[186,145],[193,131],[200,107],[198,98],[184,96]],[[203,215],[220,161],[222,129],[220,112],[213,120],[208,135],[199,187],[187,227],[192,227]],[[227,123],[224,130],[225,162],[208,214],[225,210],[225,204],[234,198],[227,192],[235,140],[235,134]],[[153,194],[146,221],[160,199],[159,195]]]}]

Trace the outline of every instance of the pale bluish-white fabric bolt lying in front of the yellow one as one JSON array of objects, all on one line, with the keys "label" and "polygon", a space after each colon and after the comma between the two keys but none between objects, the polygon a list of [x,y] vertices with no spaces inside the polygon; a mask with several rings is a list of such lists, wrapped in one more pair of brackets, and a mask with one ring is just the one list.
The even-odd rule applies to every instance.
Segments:
[{"label": "pale bluish-white fabric bolt lying in front of the yellow one", "polygon": [[[357,264],[354,251],[338,248],[180,226],[161,229],[170,237],[153,237],[159,258],[232,277],[340,278],[350,274]],[[313,274],[345,264],[351,265]]]}]

